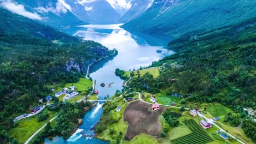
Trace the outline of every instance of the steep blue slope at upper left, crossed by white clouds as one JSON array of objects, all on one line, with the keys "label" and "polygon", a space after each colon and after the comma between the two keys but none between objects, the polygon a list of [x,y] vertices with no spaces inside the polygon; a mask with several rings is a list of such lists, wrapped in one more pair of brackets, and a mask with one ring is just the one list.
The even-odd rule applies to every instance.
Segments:
[{"label": "steep blue slope at upper left, crossed by white clouds", "polygon": [[[73,8],[75,7],[74,3],[71,8],[71,6],[63,0],[2,0],[0,5],[13,13],[17,13],[31,19],[33,19],[33,17],[31,17],[32,14],[37,15],[37,19],[35,20],[58,29],[67,26],[86,24],[88,19],[85,18],[89,17],[88,14],[86,14],[86,11],[82,11],[83,8],[78,11]],[[82,5],[80,6],[82,7]]]}]

